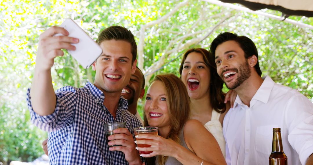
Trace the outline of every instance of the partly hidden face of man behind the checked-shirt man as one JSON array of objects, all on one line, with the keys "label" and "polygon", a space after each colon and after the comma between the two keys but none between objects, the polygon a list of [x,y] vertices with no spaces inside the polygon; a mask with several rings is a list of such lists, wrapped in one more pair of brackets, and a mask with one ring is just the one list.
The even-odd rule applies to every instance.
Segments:
[{"label": "partly hidden face of man behind the checked-shirt man", "polygon": [[143,75],[139,69],[136,69],[135,73],[131,75],[131,79],[127,86],[123,88],[121,96],[128,100],[128,105],[132,104],[134,101],[137,101],[138,98],[142,98],[142,83]]}]

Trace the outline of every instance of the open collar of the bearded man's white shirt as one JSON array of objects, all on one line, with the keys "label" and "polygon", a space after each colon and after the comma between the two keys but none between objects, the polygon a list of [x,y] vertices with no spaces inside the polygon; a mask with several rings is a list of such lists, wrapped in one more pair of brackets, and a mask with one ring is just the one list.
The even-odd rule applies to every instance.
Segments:
[{"label": "open collar of the bearded man's white shirt", "polygon": [[[254,94],[251,102],[256,99],[263,103],[267,103],[269,100],[269,95],[272,88],[274,87],[275,82],[269,76],[264,76],[262,77],[262,79],[264,79],[264,81],[261,84],[260,88],[257,90],[257,92]],[[239,98],[239,95],[237,95],[233,107],[236,107],[237,104],[244,105],[242,100]]]}]

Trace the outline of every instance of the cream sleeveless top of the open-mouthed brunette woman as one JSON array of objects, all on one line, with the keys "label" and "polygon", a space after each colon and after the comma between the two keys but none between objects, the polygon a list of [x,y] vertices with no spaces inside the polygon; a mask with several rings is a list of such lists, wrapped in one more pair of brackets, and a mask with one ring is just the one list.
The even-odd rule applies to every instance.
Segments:
[{"label": "cream sleeveless top of the open-mouthed brunette woman", "polygon": [[208,121],[208,123],[205,123],[204,127],[207,128],[207,130],[210,131],[210,133],[212,133],[212,135],[218,142],[218,145],[221,148],[223,156],[225,158],[225,143],[226,142],[223,136],[222,124],[221,122],[219,122],[220,116],[221,116],[221,113],[218,113],[213,109],[211,121]]}]

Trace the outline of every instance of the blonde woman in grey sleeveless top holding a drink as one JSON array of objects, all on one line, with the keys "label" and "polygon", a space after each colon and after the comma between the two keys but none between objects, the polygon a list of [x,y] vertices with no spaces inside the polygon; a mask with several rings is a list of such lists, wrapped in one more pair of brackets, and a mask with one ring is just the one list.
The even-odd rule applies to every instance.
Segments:
[{"label": "blonde woman in grey sleeveless top holding a drink", "polygon": [[157,75],[147,94],[145,111],[146,126],[159,127],[159,135],[141,134],[136,147],[142,157],[156,156],[155,164],[226,164],[221,149],[213,135],[198,120],[189,120],[190,99],[182,80],[173,74]]}]

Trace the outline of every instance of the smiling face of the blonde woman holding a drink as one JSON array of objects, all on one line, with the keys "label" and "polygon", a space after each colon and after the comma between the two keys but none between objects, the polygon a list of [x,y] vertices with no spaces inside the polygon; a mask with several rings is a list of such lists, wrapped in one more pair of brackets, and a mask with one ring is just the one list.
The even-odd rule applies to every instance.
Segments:
[{"label": "smiling face of the blonde woman holding a drink", "polygon": [[146,119],[150,126],[159,128],[170,127],[165,87],[161,81],[154,81],[146,94],[144,106]]}]

